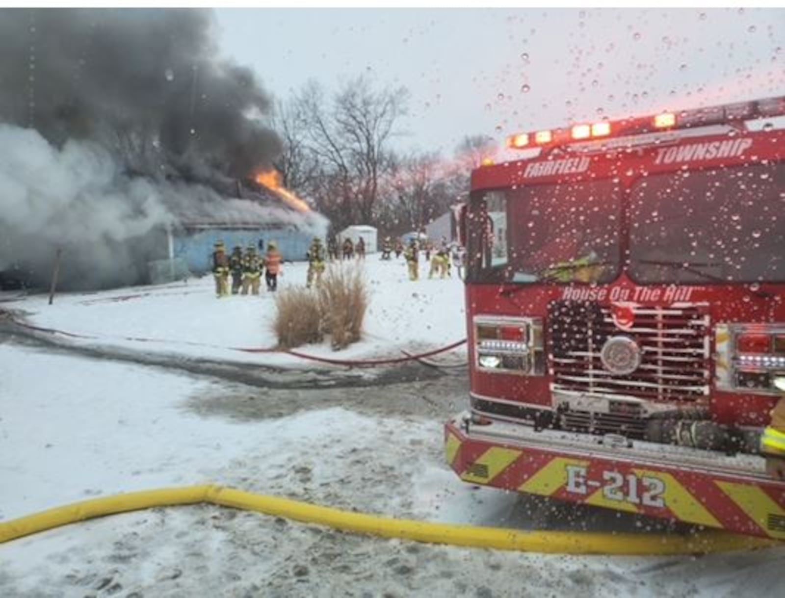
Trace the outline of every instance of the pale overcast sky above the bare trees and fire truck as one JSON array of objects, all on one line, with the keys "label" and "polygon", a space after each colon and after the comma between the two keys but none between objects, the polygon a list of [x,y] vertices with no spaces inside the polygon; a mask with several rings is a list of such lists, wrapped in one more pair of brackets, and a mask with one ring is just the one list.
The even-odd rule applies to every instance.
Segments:
[{"label": "pale overcast sky above the bare trees and fire truck", "polygon": [[403,148],[785,95],[785,9],[218,9],[221,51],[286,98],[411,91]]}]

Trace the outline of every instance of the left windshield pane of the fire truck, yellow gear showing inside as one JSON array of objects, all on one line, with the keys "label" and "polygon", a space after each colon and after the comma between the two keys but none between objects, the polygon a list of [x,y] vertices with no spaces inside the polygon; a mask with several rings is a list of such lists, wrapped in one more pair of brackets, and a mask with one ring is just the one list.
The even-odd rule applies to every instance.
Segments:
[{"label": "left windshield pane of the fire truck, yellow gear showing inside", "polygon": [[620,263],[611,180],[487,191],[469,206],[469,282],[609,283]]}]

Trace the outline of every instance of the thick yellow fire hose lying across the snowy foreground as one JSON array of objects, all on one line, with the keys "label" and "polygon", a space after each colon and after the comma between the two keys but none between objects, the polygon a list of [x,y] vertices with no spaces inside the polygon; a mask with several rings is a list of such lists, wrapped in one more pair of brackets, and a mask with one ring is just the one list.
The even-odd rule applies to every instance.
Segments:
[{"label": "thick yellow fire hose lying across the snowy foreground", "polygon": [[40,531],[115,513],[210,503],[257,511],[341,531],[401,538],[431,544],[473,546],[523,552],[604,555],[679,555],[759,549],[778,542],[722,531],[678,534],[601,534],[568,531],[517,531],[447,523],[399,520],[330,509],[264,494],[252,494],[221,486],[192,486],[130,492],[93,498],[49,509],[16,520],[0,522],[0,543]]}]

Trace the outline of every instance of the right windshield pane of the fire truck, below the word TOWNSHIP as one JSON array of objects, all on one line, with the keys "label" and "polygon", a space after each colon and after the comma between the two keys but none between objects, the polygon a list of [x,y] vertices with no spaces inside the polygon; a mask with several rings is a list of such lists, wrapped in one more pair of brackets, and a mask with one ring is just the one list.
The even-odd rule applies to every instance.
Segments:
[{"label": "right windshield pane of the fire truck, below the word TOWNSHIP", "polygon": [[785,165],[637,180],[630,276],[637,283],[785,281]]}]

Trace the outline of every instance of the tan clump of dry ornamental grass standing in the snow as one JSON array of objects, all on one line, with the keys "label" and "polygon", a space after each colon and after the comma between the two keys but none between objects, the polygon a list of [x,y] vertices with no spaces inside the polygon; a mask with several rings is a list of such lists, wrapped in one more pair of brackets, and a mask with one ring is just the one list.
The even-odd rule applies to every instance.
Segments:
[{"label": "tan clump of dry ornamental grass standing in the snow", "polygon": [[282,348],[320,342],[329,334],[338,350],[360,340],[367,307],[363,269],[331,264],[316,290],[296,287],[276,296],[273,329]]}]

